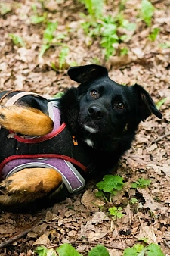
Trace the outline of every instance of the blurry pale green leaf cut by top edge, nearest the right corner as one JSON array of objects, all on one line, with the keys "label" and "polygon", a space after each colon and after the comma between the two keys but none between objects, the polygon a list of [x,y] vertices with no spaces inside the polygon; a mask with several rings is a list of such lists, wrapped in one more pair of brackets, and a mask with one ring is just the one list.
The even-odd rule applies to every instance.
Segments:
[{"label": "blurry pale green leaf cut by top edge, nearest the right corner", "polygon": [[153,7],[149,0],[141,1],[141,18],[147,24],[147,27],[150,27],[154,10],[155,8]]}]

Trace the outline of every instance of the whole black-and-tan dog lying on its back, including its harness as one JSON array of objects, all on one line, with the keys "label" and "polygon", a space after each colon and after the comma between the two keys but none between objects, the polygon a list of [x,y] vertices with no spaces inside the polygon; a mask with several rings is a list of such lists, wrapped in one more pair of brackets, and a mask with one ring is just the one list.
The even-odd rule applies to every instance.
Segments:
[{"label": "whole black-and-tan dog lying on its back, including its harness", "polygon": [[[0,95],[0,167],[6,178],[0,183],[0,208],[20,208],[44,197],[60,201],[67,190],[79,191],[91,175],[113,169],[131,147],[141,120],[152,113],[162,118],[141,86],[115,83],[105,67],[71,67],[68,74],[81,84],[54,102],[53,115],[58,108],[59,121],[49,117],[45,98],[30,94],[15,98],[20,92]],[[65,168],[62,164],[56,165],[61,160],[76,181],[61,170]]]}]

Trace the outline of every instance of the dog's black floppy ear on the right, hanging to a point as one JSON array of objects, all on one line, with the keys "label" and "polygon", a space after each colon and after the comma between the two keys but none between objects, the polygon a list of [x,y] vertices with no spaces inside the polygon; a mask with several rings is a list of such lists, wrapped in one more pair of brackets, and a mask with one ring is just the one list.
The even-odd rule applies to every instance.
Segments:
[{"label": "dog's black floppy ear on the right, hanging to a point", "polygon": [[158,118],[162,118],[161,112],[156,108],[156,105],[153,102],[153,99],[150,97],[149,93],[138,84],[135,84],[134,90],[138,93],[139,101],[139,115],[142,121],[146,120],[152,113]]}]

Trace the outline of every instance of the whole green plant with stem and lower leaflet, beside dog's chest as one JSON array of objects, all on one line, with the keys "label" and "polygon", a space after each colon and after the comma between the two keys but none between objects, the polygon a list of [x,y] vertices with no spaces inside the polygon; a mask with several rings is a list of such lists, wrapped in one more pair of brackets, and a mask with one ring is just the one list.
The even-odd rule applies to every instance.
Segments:
[{"label": "whole green plant with stem and lower leaflet, beside dog's chest", "polygon": [[119,175],[105,175],[103,180],[97,183],[97,189],[99,189],[98,192],[96,192],[96,196],[102,196],[107,200],[107,195],[110,195],[110,201],[111,201],[111,195],[116,195],[116,192],[122,189],[124,185],[123,179]]}]

